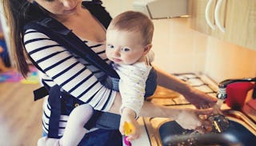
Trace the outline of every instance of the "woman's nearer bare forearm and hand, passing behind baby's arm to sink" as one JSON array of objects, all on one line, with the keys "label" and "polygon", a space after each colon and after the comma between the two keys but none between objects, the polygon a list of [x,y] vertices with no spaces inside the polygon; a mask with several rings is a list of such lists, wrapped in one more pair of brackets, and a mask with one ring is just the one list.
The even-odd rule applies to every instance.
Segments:
[{"label": "woman's nearer bare forearm and hand, passing behind baby's arm to sink", "polygon": [[[121,103],[122,98],[120,93],[117,93],[117,96],[109,112],[119,114]],[[166,117],[172,120],[176,120],[178,124],[182,126],[182,128],[198,129],[200,132],[205,132],[205,129],[202,128],[202,125],[207,127],[209,126],[209,123],[202,121],[199,118],[199,115],[209,115],[212,112],[213,109],[177,108],[173,106],[154,105],[149,101],[145,101],[139,116]]]}]

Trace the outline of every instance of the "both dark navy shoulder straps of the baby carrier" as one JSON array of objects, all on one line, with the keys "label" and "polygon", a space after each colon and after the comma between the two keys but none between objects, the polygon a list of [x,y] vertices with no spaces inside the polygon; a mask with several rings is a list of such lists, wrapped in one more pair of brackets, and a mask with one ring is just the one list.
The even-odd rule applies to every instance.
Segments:
[{"label": "both dark navy shoulder straps of the baby carrier", "polygon": [[[104,7],[97,2],[101,1],[83,2],[83,6],[86,6],[86,9],[90,10],[90,13],[98,18],[103,26],[107,27],[111,20],[110,15],[106,12]],[[24,29],[34,29],[46,34],[52,40],[57,41],[70,52],[75,53],[79,57],[90,62],[90,64],[98,67],[98,69],[101,69],[110,77],[119,78],[118,73],[116,73],[106,61],[103,61],[97,53],[94,53],[94,51],[77,37],[72,30],[69,30],[54,18],[40,18],[38,21],[28,23]]]}]

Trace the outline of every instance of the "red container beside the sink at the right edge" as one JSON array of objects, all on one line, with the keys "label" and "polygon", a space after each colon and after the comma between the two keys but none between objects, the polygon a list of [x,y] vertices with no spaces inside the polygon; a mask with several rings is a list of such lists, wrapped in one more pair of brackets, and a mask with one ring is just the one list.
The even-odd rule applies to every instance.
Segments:
[{"label": "red container beside the sink at the right edge", "polygon": [[231,109],[241,109],[246,101],[246,95],[254,84],[250,82],[235,82],[226,87],[226,105]]}]

